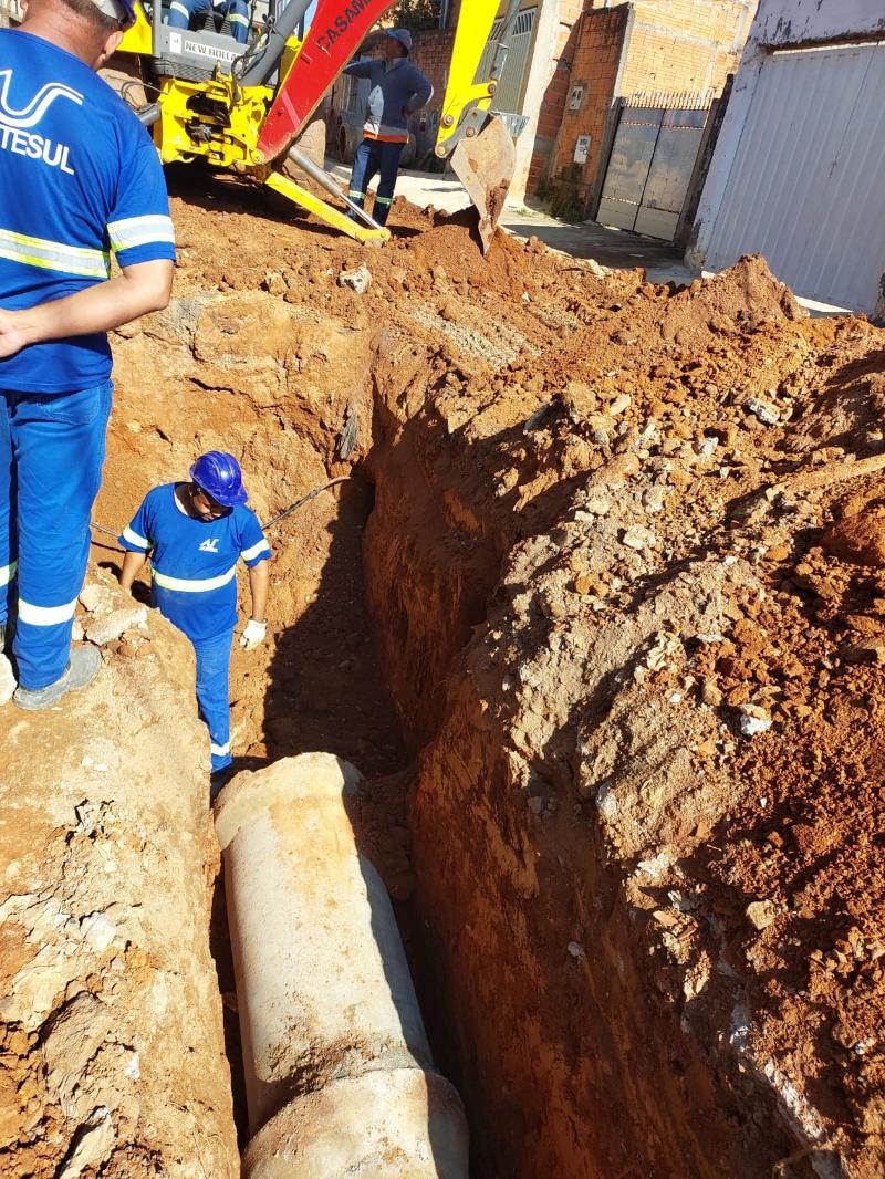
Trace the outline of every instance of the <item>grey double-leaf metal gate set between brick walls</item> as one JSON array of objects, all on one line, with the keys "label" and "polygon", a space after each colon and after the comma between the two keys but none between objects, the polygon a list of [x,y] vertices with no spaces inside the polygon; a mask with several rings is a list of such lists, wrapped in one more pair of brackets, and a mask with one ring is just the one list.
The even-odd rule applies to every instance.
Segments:
[{"label": "grey double-leaf metal gate set between brick walls", "polygon": [[701,149],[709,103],[640,104],[630,99],[621,110],[596,219],[671,242]]}]

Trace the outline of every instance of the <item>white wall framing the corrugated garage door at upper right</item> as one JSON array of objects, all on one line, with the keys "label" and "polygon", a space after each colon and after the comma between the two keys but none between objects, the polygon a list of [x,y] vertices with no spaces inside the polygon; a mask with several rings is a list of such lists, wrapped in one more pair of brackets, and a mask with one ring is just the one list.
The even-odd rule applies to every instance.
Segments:
[{"label": "white wall framing the corrugated garage door at upper right", "polygon": [[[814,41],[885,38],[884,0],[760,0],[686,252],[703,268],[767,52]],[[798,294],[802,294],[799,291]],[[871,307],[874,297],[871,298]]]}]

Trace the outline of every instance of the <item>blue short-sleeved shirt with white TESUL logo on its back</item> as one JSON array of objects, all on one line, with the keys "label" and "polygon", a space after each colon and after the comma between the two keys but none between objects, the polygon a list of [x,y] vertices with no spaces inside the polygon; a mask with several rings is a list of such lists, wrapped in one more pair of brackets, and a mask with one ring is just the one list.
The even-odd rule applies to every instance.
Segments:
[{"label": "blue short-sleeved shirt with white TESUL logo on its back", "polygon": [[[0,307],[73,295],[122,266],[175,259],[157,151],[90,67],[21,29],[0,29]],[[68,393],[111,374],[103,332],[0,360],[0,389]]]}]

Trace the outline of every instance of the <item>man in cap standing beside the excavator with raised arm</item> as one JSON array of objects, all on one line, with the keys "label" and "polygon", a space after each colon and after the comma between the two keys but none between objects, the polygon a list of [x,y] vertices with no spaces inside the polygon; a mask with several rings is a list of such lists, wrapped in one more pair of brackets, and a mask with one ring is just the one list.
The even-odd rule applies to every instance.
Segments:
[{"label": "man in cap standing beside the excavator with raised arm", "polygon": [[[379,173],[373,219],[387,224],[387,215],[396,186],[402,149],[408,143],[408,119],[433,97],[433,86],[421,71],[407,61],[412,34],[407,28],[392,28],[385,34],[384,60],[352,61],[345,73],[368,78],[372,83],[366,104],[362,143],[356,149],[347,193],[362,209],[369,180]],[[348,217],[355,219],[355,213]]]}]

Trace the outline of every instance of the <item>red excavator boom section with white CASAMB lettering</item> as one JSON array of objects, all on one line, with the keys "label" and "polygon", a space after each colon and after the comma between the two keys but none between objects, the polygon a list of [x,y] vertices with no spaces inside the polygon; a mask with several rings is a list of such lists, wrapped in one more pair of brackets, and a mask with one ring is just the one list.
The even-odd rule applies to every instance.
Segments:
[{"label": "red excavator boom section with white CASAMB lettering", "polygon": [[393,0],[320,0],[288,77],[258,137],[264,159],[276,159],[307,123],[366,33]]}]

